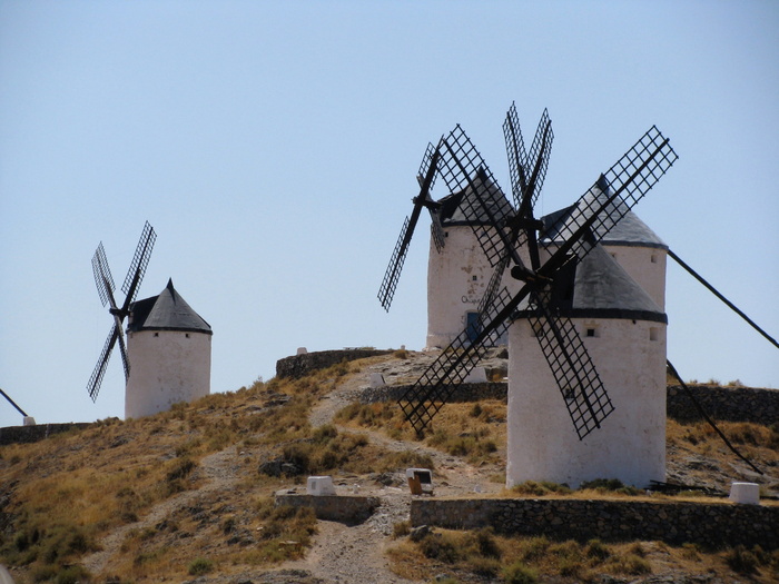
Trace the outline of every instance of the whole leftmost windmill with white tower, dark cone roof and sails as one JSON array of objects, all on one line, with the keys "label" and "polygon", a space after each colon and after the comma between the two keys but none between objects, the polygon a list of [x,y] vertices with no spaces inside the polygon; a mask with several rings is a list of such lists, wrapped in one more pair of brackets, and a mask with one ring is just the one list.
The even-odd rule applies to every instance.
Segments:
[{"label": "whole leftmost windmill with white tower, dark cone roof and sails", "polygon": [[[172,285],[158,296],[135,301],[157,234],[146,222],[122,285],[125,300],[115,299],[115,284],[102,242],[92,257],[98,294],[114,324],[87,389],[97,399],[114,347],[125,366],[125,417],[142,417],[191,402],[210,392],[211,328]],[[125,344],[125,318],[129,317]],[[130,366],[131,365],[131,366]]]}]

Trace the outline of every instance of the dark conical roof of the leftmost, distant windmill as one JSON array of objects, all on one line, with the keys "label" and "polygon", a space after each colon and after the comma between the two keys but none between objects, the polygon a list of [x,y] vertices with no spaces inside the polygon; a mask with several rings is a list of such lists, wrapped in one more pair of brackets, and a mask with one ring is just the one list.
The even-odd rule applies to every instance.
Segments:
[{"label": "dark conical roof of the leftmost, distant windmill", "polygon": [[158,295],[134,303],[130,308],[129,331],[186,330],[211,335],[211,327],[181,298],[172,279]]}]

